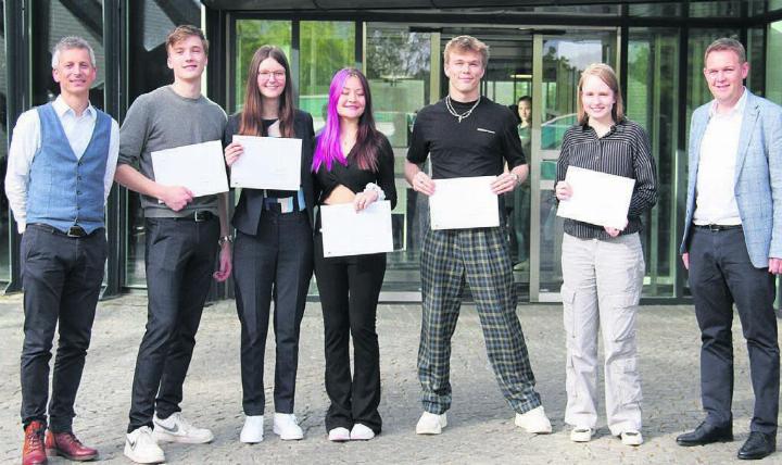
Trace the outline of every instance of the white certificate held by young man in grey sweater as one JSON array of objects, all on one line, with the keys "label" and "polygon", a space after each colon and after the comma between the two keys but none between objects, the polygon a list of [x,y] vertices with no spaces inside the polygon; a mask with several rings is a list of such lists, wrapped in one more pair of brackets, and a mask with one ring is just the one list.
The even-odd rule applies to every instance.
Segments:
[{"label": "white certificate held by young man in grey sweater", "polygon": [[228,180],[219,140],[180,146],[152,152],[155,181],[184,186],[193,197],[228,191]]}]

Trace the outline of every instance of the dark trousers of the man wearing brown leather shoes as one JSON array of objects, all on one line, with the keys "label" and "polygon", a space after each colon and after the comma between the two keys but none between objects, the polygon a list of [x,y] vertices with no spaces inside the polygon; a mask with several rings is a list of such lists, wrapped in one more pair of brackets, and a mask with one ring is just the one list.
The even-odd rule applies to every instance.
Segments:
[{"label": "dark trousers of the man wearing brown leather shoes", "polygon": [[31,224],[22,236],[24,345],[22,423],[47,423],[49,360],[59,323],[59,340],[49,428],[72,429],[106,259],[105,231],[71,238],[47,225]]}]

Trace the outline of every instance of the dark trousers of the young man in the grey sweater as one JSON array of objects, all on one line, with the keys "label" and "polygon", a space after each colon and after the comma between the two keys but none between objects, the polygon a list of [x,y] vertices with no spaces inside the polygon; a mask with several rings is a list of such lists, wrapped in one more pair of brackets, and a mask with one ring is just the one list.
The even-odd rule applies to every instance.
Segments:
[{"label": "dark trousers of the young man in the grey sweater", "polygon": [[[179,412],[201,312],[212,285],[219,221],[147,218],[147,330],[134,374],[128,432]],[[156,395],[156,398],[155,398]]]}]

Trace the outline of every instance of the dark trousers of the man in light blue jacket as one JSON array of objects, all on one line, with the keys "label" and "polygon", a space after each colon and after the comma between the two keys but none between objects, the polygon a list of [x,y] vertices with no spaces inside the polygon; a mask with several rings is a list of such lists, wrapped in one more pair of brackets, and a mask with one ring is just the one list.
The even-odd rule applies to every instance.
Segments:
[{"label": "dark trousers of the man in light blue jacket", "polygon": [[701,327],[701,397],[706,422],[732,422],[733,304],[747,341],[755,412],[752,431],[777,433],[780,354],[773,311],[774,277],[749,261],[741,228],[694,228],[690,243],[690,289]]}]

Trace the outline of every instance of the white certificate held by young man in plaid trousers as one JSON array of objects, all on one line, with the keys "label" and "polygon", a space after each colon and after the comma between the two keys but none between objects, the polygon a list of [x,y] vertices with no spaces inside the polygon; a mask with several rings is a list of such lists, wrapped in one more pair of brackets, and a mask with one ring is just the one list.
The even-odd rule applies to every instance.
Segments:
[{"label": "white certificate held by young man in plaid trousers", "polygon": [[469,229],[500,226],[497,196],[491,184],[496,176],[434,179],[429,197],[431,228]]}]

